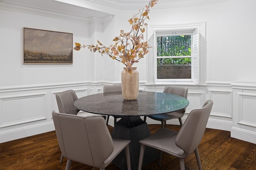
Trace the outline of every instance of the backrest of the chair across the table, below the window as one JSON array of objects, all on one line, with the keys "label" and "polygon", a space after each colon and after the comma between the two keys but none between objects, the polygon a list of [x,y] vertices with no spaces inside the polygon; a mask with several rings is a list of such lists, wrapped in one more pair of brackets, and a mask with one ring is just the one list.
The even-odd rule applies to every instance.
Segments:
[{"label": "backrest of the chair across the table, below the window", "polygon": [[[164,93],[170,93],[184,98],[188,98],[188,88],[179,86],[165,86]],[[181,110],[183,113],[186,111],[186,107]]]}]

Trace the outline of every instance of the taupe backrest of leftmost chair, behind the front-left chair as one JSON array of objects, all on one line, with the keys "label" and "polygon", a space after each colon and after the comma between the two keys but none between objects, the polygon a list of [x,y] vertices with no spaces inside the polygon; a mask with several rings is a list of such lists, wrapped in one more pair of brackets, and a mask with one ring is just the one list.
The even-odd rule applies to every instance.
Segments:
[{"label": "taupe backrest of leftmost chair, behind the front-left chair", "polygon": [[74,90],[66,90],[56,94],[57,105],[60,113],[76,115],[79,109],[74,106],[77,100]]}]

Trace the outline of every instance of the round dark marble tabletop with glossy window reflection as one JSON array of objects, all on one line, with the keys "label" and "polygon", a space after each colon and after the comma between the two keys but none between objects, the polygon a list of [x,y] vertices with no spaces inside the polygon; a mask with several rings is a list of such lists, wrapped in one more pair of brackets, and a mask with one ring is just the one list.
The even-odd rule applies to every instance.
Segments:
[{"label": "round dark marble tabletop with glossy window reflection", "polygon": [[137,100],[124,100],[122,92],[93,94],[79,98],[74,106],[100,115],[142,116],[170,113],[187,107],[186,98],[163,92],[139,92]]}]

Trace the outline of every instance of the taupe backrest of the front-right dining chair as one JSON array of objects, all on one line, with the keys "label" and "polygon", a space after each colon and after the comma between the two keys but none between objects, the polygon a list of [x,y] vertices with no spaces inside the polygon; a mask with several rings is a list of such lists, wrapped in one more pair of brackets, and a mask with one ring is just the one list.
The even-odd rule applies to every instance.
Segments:
[{"label": "taupe backrest of the front-right dining chair", "polygon": [[192,110],[180,128],[175,143],[180,149],[184,150],[185,157],[194,152],[202,141],[212,105],[212,100],[207,100],[202,109]]}]

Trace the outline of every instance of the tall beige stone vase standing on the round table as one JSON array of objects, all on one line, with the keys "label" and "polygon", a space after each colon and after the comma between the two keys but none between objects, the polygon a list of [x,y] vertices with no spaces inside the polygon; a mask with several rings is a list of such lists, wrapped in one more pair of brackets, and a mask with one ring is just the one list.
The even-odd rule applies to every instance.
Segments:
[{"label": "tall beige stone vase standing on the round table", "polygon": [[127,68],[121,73],[122,95],[124,100],[136,100],[139,94],[139,72],[137,67],[132,67],[132,74],[127,72]]}]

